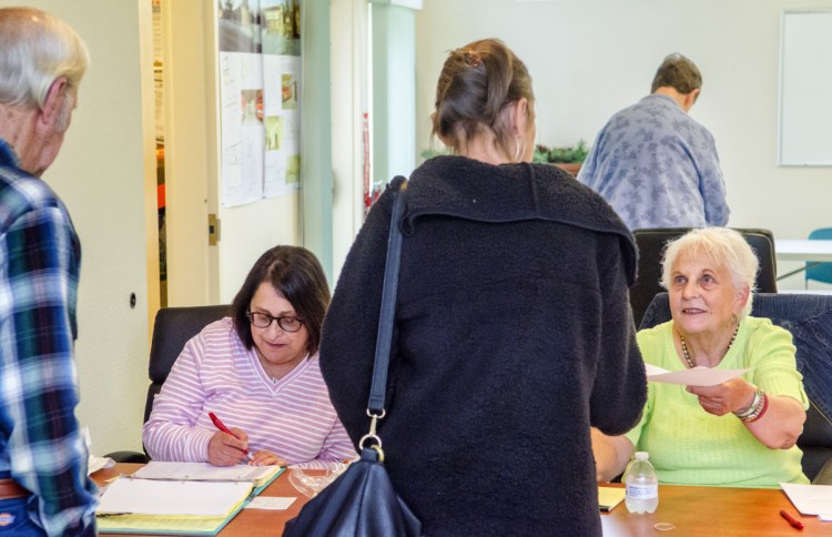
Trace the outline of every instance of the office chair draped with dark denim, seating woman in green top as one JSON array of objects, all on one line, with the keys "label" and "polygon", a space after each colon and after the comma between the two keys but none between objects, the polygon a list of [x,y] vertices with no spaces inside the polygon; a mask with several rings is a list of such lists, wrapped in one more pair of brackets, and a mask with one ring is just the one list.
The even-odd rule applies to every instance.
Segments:
[{"label": "office chair draped with dark denim, seating woman in green top", "polygon": [[[768,317],[792,334],[798,371],[810,403],[803,434],[798,438],[803,474],[815,485],[832,485],[832,295],[758,293],[751,315]],[[670,318],[668,294],[659,293],[640,328]]]}]

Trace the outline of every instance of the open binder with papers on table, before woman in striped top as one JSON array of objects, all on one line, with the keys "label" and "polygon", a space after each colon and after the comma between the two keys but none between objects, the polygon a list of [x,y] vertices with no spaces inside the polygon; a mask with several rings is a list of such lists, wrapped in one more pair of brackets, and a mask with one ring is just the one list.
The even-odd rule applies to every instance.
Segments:
[{"label": "open binder with papers on table, before woman in striped top", "polygon": [[98,527],[112,534],[215,535],[283,470],[152,462],[106,487]]}]

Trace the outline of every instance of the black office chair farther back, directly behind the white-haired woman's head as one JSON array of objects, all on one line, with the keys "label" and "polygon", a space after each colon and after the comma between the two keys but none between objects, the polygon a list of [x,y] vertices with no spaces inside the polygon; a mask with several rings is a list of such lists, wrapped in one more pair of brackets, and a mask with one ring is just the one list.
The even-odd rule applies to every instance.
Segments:
[{"label": "black office chair farther back, directly behind the white-haired woman's head", "polygon": [[[636,230],[632,232],[639,250],[638,276],[630,287],[630,305],[632,318],[638,326],[645,311],[657,293],[664,288],[661,280],[661,257],[670,241],[679,239],[691,227],[659,227],[652,230]],[[760,272],[757,275],[757,291],[760,293],[777,293],[777,261],[774,257],[774,235],[769,230],[737,229],[745,237],[751,250],[760,260]]]}]

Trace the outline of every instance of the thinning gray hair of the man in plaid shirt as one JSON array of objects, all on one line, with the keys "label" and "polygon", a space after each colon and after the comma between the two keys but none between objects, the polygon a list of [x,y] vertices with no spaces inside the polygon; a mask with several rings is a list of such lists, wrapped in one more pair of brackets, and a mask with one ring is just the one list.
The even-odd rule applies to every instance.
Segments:
[{"label": "thinning gray hair of the man in plaid shirt", "polygon": [[42,108],[57,79],[78,89],[89,63],[87,45],[62,20],[32,8],[0,8],[0,104]]}]

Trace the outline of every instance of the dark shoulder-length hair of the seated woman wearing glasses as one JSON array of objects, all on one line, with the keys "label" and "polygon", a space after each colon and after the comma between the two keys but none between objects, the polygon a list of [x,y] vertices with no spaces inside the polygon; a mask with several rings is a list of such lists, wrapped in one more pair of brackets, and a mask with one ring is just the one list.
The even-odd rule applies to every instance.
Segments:
[{"label": "dark shoulder-length hair of the seated woman wearing glasses", "polygon": [[315,354],[321,344],[321,325],[329,305],[329,285],[315,254],[301,246],[275,246],[254,263],[231,304],[234,330],[245,348],[254,345],[246,313],[257,287],[265,282],[280,291],[295,308],[310,334],[308,353]]}]

